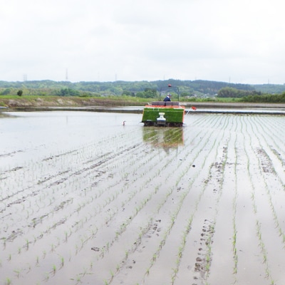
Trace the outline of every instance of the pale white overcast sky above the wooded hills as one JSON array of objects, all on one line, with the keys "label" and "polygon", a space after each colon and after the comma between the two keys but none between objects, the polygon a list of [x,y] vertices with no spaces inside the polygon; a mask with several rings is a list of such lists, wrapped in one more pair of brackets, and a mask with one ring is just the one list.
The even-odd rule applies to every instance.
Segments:
[{"label": "pale white overcast sky above the wooded hills", "polygon": [[0,0],[0,81],[285,83],[284,0]]}]

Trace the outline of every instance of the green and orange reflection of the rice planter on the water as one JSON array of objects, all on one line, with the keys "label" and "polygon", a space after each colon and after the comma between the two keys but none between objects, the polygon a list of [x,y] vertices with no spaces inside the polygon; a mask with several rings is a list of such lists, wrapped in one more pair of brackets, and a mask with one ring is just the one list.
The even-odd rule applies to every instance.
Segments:
[{"label": "green and orange reflection of the rice planter on the water", "polygon": [[183,128],[142,128],[143,141],[155,147],[174,148],[184,144]]}]

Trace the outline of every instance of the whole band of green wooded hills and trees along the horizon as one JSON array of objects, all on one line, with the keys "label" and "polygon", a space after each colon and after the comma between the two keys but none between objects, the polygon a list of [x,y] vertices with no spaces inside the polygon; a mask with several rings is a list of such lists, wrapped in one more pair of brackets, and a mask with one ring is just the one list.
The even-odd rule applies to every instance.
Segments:
[{"label": "whole band of green wooded hills and trees along the horizon", "polygon": [[[157,98],[160,88],[171,84],[180,90],[181,98],[255,98],[263,94],[282,94],[285,85],[249,85],[218,81],[0,81],[0,95],[55,95],[55,96],[120,96]],[[270,92],[269,92],[270,90]],[[19,94],[18,94],[19,95]],[[269,95],[267,95],[269,96]]]}]

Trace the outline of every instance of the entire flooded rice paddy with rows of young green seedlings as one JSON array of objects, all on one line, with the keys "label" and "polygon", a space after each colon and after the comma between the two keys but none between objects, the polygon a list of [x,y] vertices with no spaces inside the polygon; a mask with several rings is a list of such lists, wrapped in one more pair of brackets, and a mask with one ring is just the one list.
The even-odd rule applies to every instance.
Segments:
[{"label": "entire flooded rice paddy with rows of young green seedlings", "polygon": [[285,284],[284,116],[140,120],[0,113],[0,284]]}]

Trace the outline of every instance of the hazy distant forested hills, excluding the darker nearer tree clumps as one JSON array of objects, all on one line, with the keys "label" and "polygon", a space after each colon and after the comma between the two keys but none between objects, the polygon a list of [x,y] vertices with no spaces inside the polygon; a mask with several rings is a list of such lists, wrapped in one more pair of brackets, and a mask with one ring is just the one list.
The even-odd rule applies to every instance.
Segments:
[{"label": "hazy distant forested hills, excluding the darker nearer tree clumps", "polygon": [[[123,93],[142,92],[147,88],[160,90],[172,84],[180,89],[180,94],[212,97],[221,88],[231,87],[239,90],[257,90],[261,93],[280,94],[285,92],[285,85],[264,84],[249,85],[239,83],[225,83],[219,81],[180,81],[169,79],[166,81],[0,81],[0,95],[14,94],[16,90],[24,90],[24,95],[122,95]],[[72,91],[72,92],[71,92]]]}]

